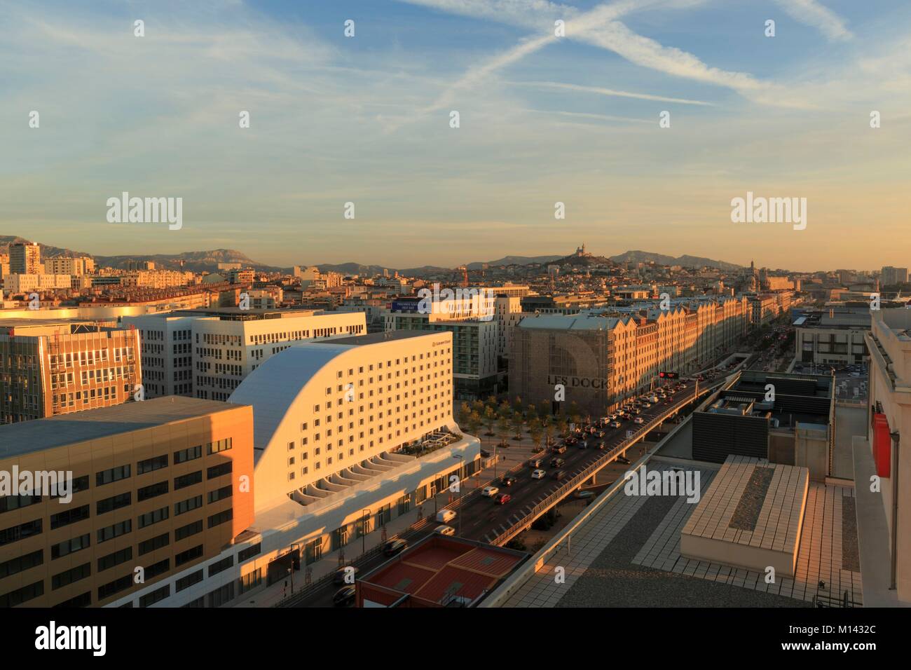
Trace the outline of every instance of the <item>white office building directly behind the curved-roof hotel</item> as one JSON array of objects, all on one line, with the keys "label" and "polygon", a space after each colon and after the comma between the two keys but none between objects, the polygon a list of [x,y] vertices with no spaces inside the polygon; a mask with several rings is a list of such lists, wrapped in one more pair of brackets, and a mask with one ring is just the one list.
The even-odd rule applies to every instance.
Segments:
[{"label": "white office building directly behind the curved-roof hotel", "polygon": [[363,313],[186,310],[127,316],[142,335],[147,397],[227,400],[241,381],[295,342],[363,335]]}]

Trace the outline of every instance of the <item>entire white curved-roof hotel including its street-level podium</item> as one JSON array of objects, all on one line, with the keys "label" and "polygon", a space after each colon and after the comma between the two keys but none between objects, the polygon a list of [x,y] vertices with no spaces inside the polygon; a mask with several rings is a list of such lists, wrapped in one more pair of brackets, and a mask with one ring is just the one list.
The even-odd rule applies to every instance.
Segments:
[{"label": "entire white curved-roof hotel including its street-level podium", "polygon": [[291,345],[251,372],[229,402],[253,407],[253,526],[209,579],[156,606],[240,603],[298,559],[316,578],[339,551],[355,558],[362,532],[474,472],[479,440],[452,417],[452,347],[448,332],[343,337]]}]

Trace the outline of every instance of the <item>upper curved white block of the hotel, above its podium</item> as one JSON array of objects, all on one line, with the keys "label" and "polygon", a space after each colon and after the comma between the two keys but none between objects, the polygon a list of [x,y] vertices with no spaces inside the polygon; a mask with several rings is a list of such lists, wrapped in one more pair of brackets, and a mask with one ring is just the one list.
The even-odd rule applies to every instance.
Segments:
[{"label": "upper curved white block of the hotel, above its podium", "polygon": [[458,435],[452,346],[450,333],[345,337],[253,371],[230,402],[253,406],[255,509],[306,507],[413,460],[393,453],[404,446]]}]

